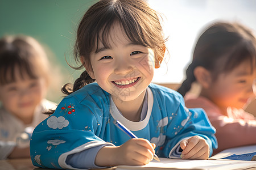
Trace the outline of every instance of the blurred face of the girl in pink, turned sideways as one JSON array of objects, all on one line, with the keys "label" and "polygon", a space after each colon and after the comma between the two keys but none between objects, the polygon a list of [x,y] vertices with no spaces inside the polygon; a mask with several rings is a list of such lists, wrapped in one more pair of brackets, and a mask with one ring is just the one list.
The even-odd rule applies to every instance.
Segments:
[{"label": "blurred face of the girl in pink, turned sideways", "polygon": [[211,100],[220,108],[243,108],[247,101],[255,98],[256,70],[251,73],[249,61],[242,62],[229,73],[222,73],[209,87]]}]

